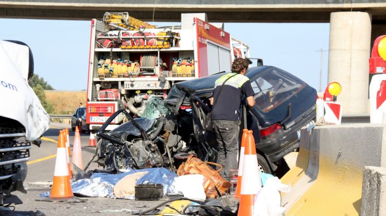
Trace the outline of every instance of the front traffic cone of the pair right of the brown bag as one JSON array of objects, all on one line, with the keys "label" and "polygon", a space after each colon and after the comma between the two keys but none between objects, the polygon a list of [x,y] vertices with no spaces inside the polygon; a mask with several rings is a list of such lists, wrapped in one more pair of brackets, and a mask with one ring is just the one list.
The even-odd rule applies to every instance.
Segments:
[{"label": "front traffic cone of the pair right of the brown bag", "polygon": [[253,215],[255,194],[261,189],[255,139],[252,131],[248,131],[247,140],[245,141],[242,175],[240,205],[237,215],[249,216]]}]

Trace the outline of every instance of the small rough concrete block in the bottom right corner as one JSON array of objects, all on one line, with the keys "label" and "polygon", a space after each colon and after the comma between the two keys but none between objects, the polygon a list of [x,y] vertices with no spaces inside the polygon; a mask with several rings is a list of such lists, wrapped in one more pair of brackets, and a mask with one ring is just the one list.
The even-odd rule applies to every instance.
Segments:
[{"label": "small rough concrete block in the bottom right corner", "polygon": [[386,215],[386,168],[364,167],[361,215]]}]

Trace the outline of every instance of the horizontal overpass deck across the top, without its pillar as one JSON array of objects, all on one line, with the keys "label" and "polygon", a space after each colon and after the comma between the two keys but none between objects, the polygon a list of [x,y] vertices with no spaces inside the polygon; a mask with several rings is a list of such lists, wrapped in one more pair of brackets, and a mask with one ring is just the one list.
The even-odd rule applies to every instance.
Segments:
[{"label": "horizontal overpass deck across the top, without its pillar", "polygon": [[386,22],[383,0],[10,0],[0,1],[0,17],[90,20],[106,11],[129,11],[137,19],[181,19],[182,12],[205,12],[210,22],[329,22],[331,12],[362,11],[373,23]]}]

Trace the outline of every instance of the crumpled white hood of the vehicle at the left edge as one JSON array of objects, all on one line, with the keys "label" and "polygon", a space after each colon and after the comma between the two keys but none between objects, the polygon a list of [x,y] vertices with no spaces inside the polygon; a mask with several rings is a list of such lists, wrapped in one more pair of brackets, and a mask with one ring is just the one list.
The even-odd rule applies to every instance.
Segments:
[{"label": "crumpled white hood of the vehicle at the left edge", "polygon": [[36,140],[49,128],[49,116],[28,85],[29,48],[0,41],[0,116],[19,121],[26,139]]}]

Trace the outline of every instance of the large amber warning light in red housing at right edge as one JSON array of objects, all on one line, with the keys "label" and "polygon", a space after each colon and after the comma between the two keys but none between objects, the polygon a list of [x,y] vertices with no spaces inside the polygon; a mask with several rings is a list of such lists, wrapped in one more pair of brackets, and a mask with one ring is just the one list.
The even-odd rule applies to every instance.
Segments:
[{"label": "large amber warning light in red housing at right edge", "polygon": [[369,73],[386,73],[386,35],[379,36],[374,41],[369,59]]}]

